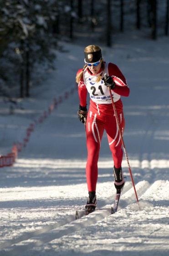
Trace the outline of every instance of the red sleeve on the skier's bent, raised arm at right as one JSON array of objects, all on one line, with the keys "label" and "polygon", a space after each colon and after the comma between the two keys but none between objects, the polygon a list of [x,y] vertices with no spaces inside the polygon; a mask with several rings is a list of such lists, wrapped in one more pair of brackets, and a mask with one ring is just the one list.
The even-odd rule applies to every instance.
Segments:
[{"label": "red sleeve on the skier's bent, raised arm at right", "polygon": [[113,81],[116,84],[116,87],[114,88],[113,91],[120,96],[128,97],[130,93],[130,89],[128,87],[128,84],[124,75],[122,74],[118,66],[113,63],[109,63],[108,74],[112,76]]}]

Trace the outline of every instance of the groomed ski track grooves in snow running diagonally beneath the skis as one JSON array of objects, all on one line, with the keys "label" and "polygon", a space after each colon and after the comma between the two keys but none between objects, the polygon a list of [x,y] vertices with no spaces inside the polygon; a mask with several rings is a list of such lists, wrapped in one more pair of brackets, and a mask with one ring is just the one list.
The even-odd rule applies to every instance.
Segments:
[{"label": "groomed ski track grooves in snow running diagonally beneath the skis", "polygon": [[[143,194],[151,187],[149,182],[140,181],[136,185],[138,197]],[[135,193],[131,182],[128,182],[124,187],[123,194],[120,199],[118,211],[121,208],[126,208],[131,203],[136,202]],[[103,203],[102,203],[103,204]],[[142,210],[142,209],[141,209]],[[80,213],[80,212],[79,212]],[[118,213],[114,213],[118,214]],[[79,229],[83,229],[89,225],[95,224],[98,221],[112,215],[111,205],[101,206],[100,208],[89,214],[86,217],[75,220],[75,214],[70,215],[67,219],[58,222],[56,224],[48,225],[42,229],[30,232],[16,239],[6,241],[0,245],[0,256],[15,256],[26,250],[31,250],[34,247],[41,246],[52,240],[61,238],[64,235],[76,232]],[[31,242],[29,240],[32,240]],[[17,245],[18,244],[18,245]],[[10,245],[12,245],[10,247]],[[15,248],[14,248],[15,247]]]}]

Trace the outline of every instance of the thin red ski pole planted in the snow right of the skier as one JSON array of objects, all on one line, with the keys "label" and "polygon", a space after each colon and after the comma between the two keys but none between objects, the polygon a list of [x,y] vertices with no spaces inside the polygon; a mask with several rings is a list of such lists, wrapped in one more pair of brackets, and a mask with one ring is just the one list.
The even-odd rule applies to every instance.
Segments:
[{"label": "thin red ski pole planted in the snow right of the skier", "polygon": [[[107,74],[104,74],[104,79],[105,79],[105,80],[107,79]],[[138,202],[138,207],[139,207],[139,209],[140,209],[140,205],[139,205],[139,201],[138,201],[138,196],[137,196],[136,188],[135,188],[134,181],[133,181],[133,175],[132,175],[132,171],[131,171],[130,164],[129,164],[129,160],[128,160],[128,154],[127,154],[127,151],[126,151],[126,148],[125,148],[125,144],[124,144],[124,140],[123,140],[122,129],[121,129],[121,127],[120,127],[120,123],[119,123],[119,120],[118,120],[118,114],[117,114],[117,111],[116,111],[116,107],[115,107],[115,105],[114,105],[113,96],[112,96],[112,92],[111,92],[110,86],[108,86],[108,89],[109,89],[110,97],[111,97],[111,100],[112,100],[112,105],[113,105],[113,110],[114,110],[114,114],[115,114],[115,117],[116,117],[116,122],[117,122],[117,124],[118,124],[118,130],[119,130],[120,137],[121,137],[122,144],[123,144],[124,154],[125,154],[125,156],[126,156],[126,160],[127,160],[127,163],[128,163],[128,170],[129,170],[129,173],[130,173],[130,177],[131,177],[131,180],[132,180],[134,192],[135,192],[136,199],[137,199],[137,202]]]}]

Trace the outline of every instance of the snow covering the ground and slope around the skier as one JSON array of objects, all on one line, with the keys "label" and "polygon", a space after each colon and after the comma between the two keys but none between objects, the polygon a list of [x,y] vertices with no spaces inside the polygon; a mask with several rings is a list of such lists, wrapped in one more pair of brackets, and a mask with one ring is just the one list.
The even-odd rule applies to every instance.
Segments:
[{"label": "snow covering the ground and slope around the skier", "polygon": [[[124,40],[125,38],[125,40]],[[131,93],[122,97],[126,121],[124,143],[136,185],[136,202],[127,161],[119,210],[113,160],[106,134],[102,139],[97,182],[98,208],[75,220],[87,201],[86,138],[77,118],[75,76],[83,67],[85,45],[62,43],[56,70],[44,75],[31,98],[14,108],[0,101],[0,154],[22,142],[36,123],[26,147],[12,167],[0,169],[0,256],[166,256],[169,253],[169,43],[141,32],[119,34],[103,58],[119,66]],[[68,98],[65,98],[68,92]],[[54,98],[63,96],[43,123],[39,117]]]}]

